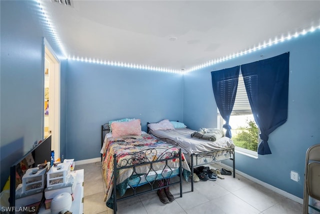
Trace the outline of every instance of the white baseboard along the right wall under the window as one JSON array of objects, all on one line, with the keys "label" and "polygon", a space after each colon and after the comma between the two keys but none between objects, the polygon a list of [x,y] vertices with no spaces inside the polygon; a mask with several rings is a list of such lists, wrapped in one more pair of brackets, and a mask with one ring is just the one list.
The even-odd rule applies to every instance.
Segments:
[{"label": "white baseboard along the right wall under the window", "polygon": [[[226,168],[226,169],[228,169],[228,170],[232,170],[232,167],[230,167],[230,166],[228,166],[228,165],[225,165],[225,164],[223,164],[223,163],[219,163],[219,164],[220,164],[223,168]],[[275,187],[275,186],[272,186],[272,185],[270,185],[270,184],[268,184],[268,183],[265,183],[265,182],[263,182],[263,181],[261,181],[261,180],[259,180],[259,179],[256,179],[255,177],[252,177],[252,176],[250,176],[250,175],[247,175],[247,174],[245,174],[245,173],[243,173],[243,172],[241,172],[241,171],[239,171],[239,170],[237,170],[237,169],[235,169],[235,172],[236,172],[237,174],[239,174],[239,175],[241,175],[241,176],[243,176],[243,177],[245,177],[245,178],[247,178],[247,179],[249,179],[249,180],[257,183],[257,184],[260,184],[261,186],[264,186],[265,188],[268,188],[268,189],[270,189],[270,190],[272,190],[272,191],[274,191],[274,192],[276,192],[276,193],[284,196],[284,197],[287,197],[287,198],[289,198],[289,199],[291,199],[291,200],[293,200],[293,201],[295,201],[295,202],[297,202],[297,203],[303,204],[303,199],[302,199],[302,198],[299,198],[299,197],[297,197],[297,196],[295,196],[295,195],[293,195],[293,194],[290,194],[290,193],[288,193],[288,192],[286,192],[286,191],[283,191],[282,189],[279,189],[279,188],[277,188],[277,187]]]}]

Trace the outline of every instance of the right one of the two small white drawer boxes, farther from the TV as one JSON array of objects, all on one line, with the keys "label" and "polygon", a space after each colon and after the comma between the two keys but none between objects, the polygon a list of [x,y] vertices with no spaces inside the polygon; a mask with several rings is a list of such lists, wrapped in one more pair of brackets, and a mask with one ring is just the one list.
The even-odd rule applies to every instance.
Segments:
[{"label": "right one of the two small white drawer boxes, farther from the TV", "polygon": [[46,186],[53,186],[59,183],[66,183],[70,174],[70,163],[59,163],[52,166],[46,175]]}]

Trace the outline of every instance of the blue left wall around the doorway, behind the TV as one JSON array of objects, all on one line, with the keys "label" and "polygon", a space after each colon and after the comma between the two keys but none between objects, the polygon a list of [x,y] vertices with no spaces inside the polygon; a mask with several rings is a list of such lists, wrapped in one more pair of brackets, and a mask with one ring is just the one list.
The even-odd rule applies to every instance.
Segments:
[{"label": "blue left wall around the doorway, behind the TV", "polygon": [[[9,166],[43,135],[44,33],[34,11],[36,4],[35,1],[0,1],[1,189],[8,178]],[[61,90],[65,87],[63,73],[65,69],[61,68]],[[61,128],[63,120],[65,113],[61,110]],[[61,130],[63,136],[65,129]],[[63,142],[65,138],[61,138]]]}]

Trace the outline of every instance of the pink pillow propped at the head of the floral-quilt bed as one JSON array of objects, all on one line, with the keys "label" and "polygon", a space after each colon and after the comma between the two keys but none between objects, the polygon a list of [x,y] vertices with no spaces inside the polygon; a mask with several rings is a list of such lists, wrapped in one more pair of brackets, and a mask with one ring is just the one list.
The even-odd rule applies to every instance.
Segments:
[{"label": "pink pillow propped at the head of the floral-quilt bed", "polygon": [[113,122],[111,123],[111,129],[112,137],[141,135],[141,121],[136,119],[128,122]]}]

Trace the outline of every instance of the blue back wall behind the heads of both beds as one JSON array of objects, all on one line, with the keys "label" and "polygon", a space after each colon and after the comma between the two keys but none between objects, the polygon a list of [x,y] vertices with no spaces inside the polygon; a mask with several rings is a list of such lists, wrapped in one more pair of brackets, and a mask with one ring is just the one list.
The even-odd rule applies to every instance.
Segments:
[{"label": "blue back wall behind the heads of both beds", "polygon": [[182,74],[67,63],[66,158],[100,156],[101,125],[121,118],[182,121]]}]

